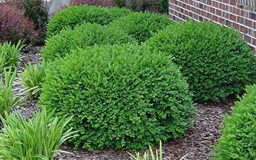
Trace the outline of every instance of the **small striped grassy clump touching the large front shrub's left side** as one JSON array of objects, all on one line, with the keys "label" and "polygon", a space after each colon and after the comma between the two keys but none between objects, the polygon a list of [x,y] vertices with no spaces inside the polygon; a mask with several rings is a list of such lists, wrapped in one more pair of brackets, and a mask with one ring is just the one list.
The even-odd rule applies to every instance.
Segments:
[{"label": "small striped grassy clump touching the large front shrub's left side", "polygon": [[25,87],[28,99],[37,99],[41,94],[42,83],[49,67],[50,63],[44,61],[33,66],[29,63],[19,74],[20,84]]}]

